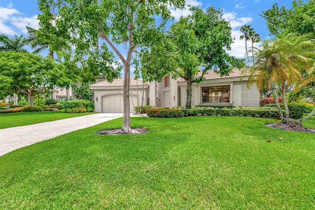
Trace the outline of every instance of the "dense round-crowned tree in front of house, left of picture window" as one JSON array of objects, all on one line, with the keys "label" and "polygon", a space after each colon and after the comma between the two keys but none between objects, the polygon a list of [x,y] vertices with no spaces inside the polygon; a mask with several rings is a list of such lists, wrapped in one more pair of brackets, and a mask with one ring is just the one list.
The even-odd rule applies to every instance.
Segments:
[{"label": "dense round-crowned tree in front of house, left of picture window", "polygon": [[[186,81],[187,109],[191,107],[191,85],[202,82],[209,70],[225,76],[233,67],[244,65],[243,60],[226,53],[231,49],[233,38],[230,24],[222,18],[221,10],[214,7],[207,10],[192,7],[190,10],[191,15],[181,17],[166,32],[163,50],[153,46],[150,59],[142,60],[144,71],[149,71],[145,75],[152,74],[152,69],[163,68],[173,78],[182,77]],[[165,63],[165,56],[172,61]]]}]

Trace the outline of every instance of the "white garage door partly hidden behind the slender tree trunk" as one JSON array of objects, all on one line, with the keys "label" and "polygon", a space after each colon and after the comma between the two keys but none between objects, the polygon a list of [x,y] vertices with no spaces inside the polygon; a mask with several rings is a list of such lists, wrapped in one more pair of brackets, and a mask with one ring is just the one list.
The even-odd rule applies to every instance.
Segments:
[{"label": "white garage door partly hidden behind the slender tree trunk", "polygon": [[[133,103],[136,105],[137,97],[132,95]],[[123,94],[105,95],[102,97],[102,112],[124,112]],[[130,95],[130,112],[134,112]]]}]

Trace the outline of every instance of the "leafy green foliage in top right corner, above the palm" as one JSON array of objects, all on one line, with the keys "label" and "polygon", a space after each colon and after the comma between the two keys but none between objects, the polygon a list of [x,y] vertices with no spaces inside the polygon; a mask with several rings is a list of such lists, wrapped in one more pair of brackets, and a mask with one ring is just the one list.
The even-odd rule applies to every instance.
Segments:
[{"label": "leafy green foliage in top right corner, above the palm", "polygon": [[271,34],[281,32],[298,34],[315,34],[315,0],[293,0],[292,7],[285,9],[274,3],[271,9],[263,11]]}]

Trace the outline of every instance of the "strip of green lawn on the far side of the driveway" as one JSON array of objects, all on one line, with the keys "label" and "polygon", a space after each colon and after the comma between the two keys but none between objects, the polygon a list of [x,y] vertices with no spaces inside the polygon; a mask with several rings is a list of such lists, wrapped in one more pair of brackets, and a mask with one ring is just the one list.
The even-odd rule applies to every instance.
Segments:
[{"label": "strip of green lawn on the far side of the driveway", "polygon": [[73,118],[83,115],[90,115],[94,113],[78,113],[78,114],[67,114],[63,110],[59,111],[42,111],[42,112],[15,112],[0,114],[0,129],[30,125],[40,122],[48,122],[53,120],[62,120],[66,118]]}]

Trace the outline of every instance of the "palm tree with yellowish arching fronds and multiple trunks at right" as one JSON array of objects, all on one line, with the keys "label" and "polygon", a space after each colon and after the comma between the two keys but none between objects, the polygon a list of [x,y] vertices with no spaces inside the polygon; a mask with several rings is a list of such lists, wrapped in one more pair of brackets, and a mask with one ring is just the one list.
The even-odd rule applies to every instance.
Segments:
[{"label": "palm tree with yellowish arching fronds and multiple trunks at right", "polygon": [[[288,85],[297,84],[302,79],[299,69],[309,68],[308,54],[314,53],[314,45],[306,41],[305,36],[286,35],[273,41],[264,40],[259,48],[255,48],[256,61],[250,69],[248,86],[256,82],[259,90],[270,86],[275,97],[279,115],[284,124],[301,125],[289,117],[285,100]],[[278,88],[281,88],[285,116],[278,101]]]}]

